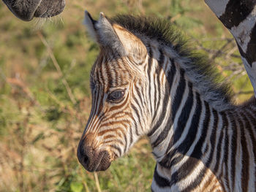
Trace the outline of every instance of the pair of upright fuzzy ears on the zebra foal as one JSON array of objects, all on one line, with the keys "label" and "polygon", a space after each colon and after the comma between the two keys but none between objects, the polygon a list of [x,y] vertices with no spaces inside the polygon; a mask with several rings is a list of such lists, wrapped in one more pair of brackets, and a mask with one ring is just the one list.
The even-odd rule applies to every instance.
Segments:
[{"label": "pair of upright fuzzy ears on the zebra foal", "polygon": [[85,24],[89,34],[102,47],[110,48],[121,56],[131,55],[136,60],[146,57],[146,47],[138,37],[105,17],[101,12],[99,20],[93,20],[86,12]]}]

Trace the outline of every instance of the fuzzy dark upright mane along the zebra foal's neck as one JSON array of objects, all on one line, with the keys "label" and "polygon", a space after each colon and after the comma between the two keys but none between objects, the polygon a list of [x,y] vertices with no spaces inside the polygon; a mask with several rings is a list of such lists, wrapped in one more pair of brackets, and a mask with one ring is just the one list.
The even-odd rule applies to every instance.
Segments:
[{"label": "fuzzy dark upright mane along the zebra foal's neck", "polygon": [[178,61],[182,61],[177,64],[184,69],[203,99],[216,110],[225,110],[233,106],[230,85],[220,82],[223,78],[205,55],[193,53],[187,45],[187,40],[173,23],[162,18],[132,15],[117,15],[109,20],[112,24],[116,23],[126,28],[142,41],[141,37],[148,37],[157,40],[159,45],[170,47],[178,55]]}]

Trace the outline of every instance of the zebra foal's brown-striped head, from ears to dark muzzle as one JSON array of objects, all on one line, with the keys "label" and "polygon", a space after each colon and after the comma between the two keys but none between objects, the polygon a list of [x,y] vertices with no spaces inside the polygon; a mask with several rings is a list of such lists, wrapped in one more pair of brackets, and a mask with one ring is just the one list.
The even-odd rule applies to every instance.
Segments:
[{"label": "zebra foal's brown-striped head, from ears to dark muzzle", "polygon": [[143,65],[148,54],[138,37],[102,13],[93,20],[86,12],[85,23],[100,52],[91,69],[91,114],[78,146],[78,160],[94,172],[108,169],[147,132],[148,110],[139,105],[146,103],[140,92],[148,83]]}]

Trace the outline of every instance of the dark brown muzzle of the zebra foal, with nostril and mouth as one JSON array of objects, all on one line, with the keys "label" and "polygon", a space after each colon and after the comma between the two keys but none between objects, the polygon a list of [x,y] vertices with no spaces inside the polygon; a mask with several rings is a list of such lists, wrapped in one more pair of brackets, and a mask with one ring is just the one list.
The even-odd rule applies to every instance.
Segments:
[{"label": "dark brown muzzle of the zebra foal, with nostril and mouth", "polygon": [[108,151],[97,151],[83,145],[78,146],[78,160],[89,172],[105,171],[111,164]]}]

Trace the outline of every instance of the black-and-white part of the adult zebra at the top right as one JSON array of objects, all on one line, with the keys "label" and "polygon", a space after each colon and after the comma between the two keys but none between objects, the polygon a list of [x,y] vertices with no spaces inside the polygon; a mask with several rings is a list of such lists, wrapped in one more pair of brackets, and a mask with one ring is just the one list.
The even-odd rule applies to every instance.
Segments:
[{"label": "black-and-white part of the adult zebra at the top right", "polygon": [[256,1],[205,0],[238,45],[256,97]]}]

